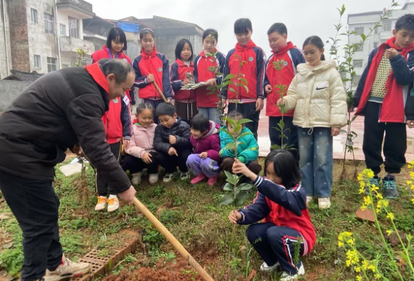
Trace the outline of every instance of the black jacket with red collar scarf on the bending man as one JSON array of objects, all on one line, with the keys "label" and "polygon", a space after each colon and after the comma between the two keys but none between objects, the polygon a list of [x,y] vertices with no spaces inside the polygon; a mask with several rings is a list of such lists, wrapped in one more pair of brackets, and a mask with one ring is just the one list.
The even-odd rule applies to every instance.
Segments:
[{"label": "black jacket with red collar scarf on the bending man", "polygon": [[80,144],[117,192],[130,181],[105,140],[108,82],[98,64],[66,68],[37,79],[0,115],[0,169],[53,181],[54,166]]}]

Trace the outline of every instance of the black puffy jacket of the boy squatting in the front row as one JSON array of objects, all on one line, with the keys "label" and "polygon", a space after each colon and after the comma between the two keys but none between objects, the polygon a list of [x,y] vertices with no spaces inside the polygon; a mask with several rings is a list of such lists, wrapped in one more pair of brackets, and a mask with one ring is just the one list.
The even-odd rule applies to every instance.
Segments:
[{"label": "black puffy jacket of the boy squatting in the front row", "polygon": [[[170,147],[176,150],[184,148],[192,148],[192,143],[189,141],[190,127],[187,122],[184,122],[180,117],[177,117],[175,124],[170,129],[159,124],[156,126],[155,136],[153,138],[153,147],[158,152],[168,153]],[[175,145],[170,144],[170,135],[177,138]]]}]

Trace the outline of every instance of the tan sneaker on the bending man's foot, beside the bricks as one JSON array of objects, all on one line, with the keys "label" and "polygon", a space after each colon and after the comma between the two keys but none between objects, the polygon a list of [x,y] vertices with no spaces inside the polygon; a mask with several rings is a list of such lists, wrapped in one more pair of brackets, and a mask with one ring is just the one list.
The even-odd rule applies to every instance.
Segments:
[{"label": "tan sneaker on the bending man's foot, beside the bricks", "polygon": [[65,257],[62,258],[62,261],[63,263],[56,270],[46,270],[44,281],[68,280],[70,277],[79,277],[91,271],[89,263],[74,263]]}]

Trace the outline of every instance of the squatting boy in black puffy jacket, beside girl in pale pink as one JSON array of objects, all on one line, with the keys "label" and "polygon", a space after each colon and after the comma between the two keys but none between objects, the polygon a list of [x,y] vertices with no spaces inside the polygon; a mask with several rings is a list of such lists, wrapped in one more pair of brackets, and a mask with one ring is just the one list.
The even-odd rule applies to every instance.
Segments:
[{"label": "squatting boy in black puffy jacket, beside girl in pale pink", "polygon": [[189,124],[177,117],[175,107],[170,103],[158,105],[156,114],[161,126],[156,127],[153,147],[158,152],[158,163],[165,169],[164,183],[172,181],[177,166],[181,180],[185,180],[189,178],[187,157],[192,154]]}]

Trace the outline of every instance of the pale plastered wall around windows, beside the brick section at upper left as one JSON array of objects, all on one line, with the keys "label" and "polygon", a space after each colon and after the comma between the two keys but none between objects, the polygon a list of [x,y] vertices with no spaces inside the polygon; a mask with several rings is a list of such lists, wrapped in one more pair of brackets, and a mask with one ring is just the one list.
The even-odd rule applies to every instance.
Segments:
[{"label": "pale plastered wall around windows, beside the brick section at upper left", "polygon": [[[37,10],[37,23],[31,22],[30,20],[30,9],[34,8]],[[47,73],[47,58],[56,58],[56,69],[59,68],[58,63],[58,46],[56,41],[56,25],[54,26],[54,35],[46,34],[44,32],[44,13],[56,15],[54,12],[54,0],[27,0],[26,19],[27,30],[28,30],[28,46],[29,46],[29,59],[30,70],[27,72],[36,71],[39,73]],[[40,68],[35,68],[34,55],[40,55]]]}]

